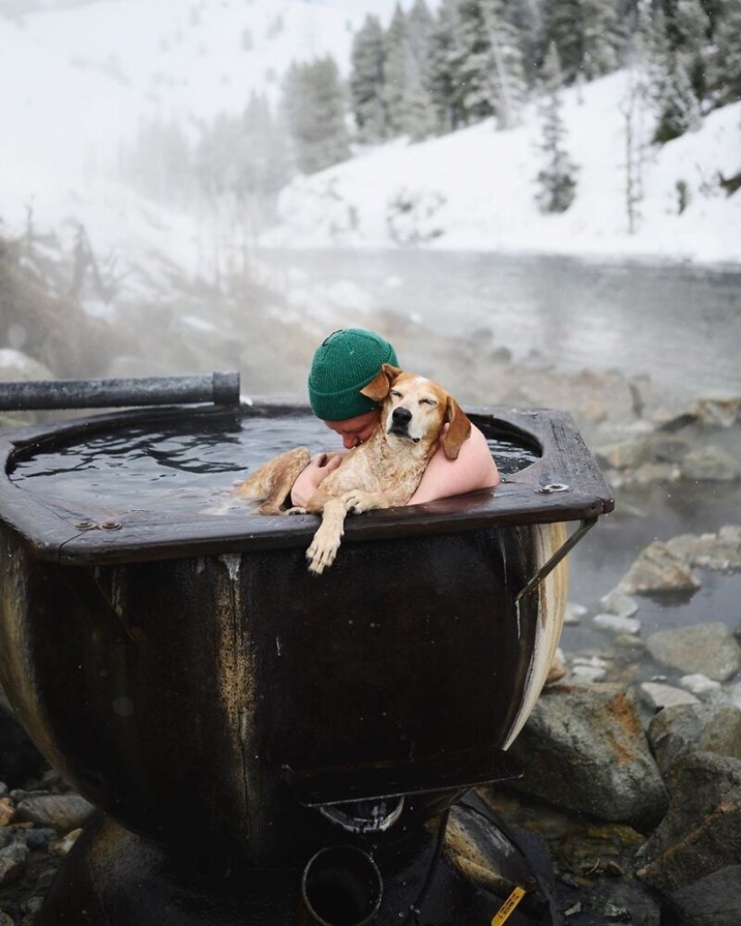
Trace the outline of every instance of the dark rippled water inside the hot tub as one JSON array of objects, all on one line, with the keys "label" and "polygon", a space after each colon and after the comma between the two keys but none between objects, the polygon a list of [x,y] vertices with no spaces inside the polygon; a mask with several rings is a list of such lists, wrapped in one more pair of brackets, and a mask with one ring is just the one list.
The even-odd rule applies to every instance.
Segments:
[{"label": "dark rippled water inside the hot tub", "polygon": [[[488,444],[504,476],[534,453],[496,435]],[[336,448],[336,436],[303,416],[220,418],[196,424],[127,426],[18,460],[10,479],[19,488],[95,506],[125,510],[191,510],[228,490],[270,457],[306,444],[312,453]],[[245,504],[244,502],[241,504]],[[218,512],[214,512],[218,513]]]}]

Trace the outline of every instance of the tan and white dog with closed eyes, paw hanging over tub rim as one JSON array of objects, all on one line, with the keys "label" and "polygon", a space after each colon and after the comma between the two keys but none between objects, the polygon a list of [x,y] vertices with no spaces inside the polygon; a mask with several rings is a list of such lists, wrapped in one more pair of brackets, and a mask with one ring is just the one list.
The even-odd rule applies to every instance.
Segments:
[{"label": "tan and white dog with closed eyes, paw hanging over tub rim", "polygon": [[453,460],[471,434],[471,421],[441,385],[391,364],[384,363],[360,392],[382,404],[378,426],[364,444],[337,455],[342,461],[306,507],[283,509],[296,477],[311,459],[306,447],[269,460],[237,487],[243,498],[262,502],[259,514],[321,516],[307,550],[308,569],[315,575],[332,566],[348,514],[406,505],[438,444]]}]

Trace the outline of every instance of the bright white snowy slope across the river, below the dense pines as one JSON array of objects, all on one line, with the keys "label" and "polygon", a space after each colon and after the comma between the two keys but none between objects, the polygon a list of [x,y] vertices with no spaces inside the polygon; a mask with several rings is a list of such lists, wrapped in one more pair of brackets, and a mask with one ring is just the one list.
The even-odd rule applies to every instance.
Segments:
[{"label": "bright white snowy slope across the river, below the dense pines", "polygon": [[[728,197],[718,182],[719,171],[741,169],[741,104],[662,148],[647,145],[629,234],[621,111],[628,81],[621,72],[564,93],[566,146],[579,167],[564,214],[544,215],[535,201],[544,158],[531,104],[511,131],[488,120],[433,141],[386,144],[295,180],[281,197],[281,227],[265,241],[741,260],[741,193]],[[687,196],[681,215],[677,183]]]}]

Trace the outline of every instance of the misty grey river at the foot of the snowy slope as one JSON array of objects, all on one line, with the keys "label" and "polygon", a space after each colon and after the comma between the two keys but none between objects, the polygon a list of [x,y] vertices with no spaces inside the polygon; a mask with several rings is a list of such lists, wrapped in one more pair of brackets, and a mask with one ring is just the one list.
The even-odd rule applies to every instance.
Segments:
[{"label": "misty grey river at the foot of the snowy slope", "polygon": [[[693,398],[741,392],[741,266],[413,250],[265,258],[286,285],[296,269],[307,286],[351,282],[375,312],[492,332],[516,360],[536,352],[557,369],[622,369]],[[363,324],[352,306],[345,315],[345,326]]]}]

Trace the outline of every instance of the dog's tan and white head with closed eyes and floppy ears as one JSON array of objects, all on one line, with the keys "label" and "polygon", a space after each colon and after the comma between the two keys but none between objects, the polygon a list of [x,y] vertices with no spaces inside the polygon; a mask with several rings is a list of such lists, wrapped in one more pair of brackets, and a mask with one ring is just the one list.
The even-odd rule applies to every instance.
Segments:
[{"label": "dog's tan and white head with closed eyes and floppy ears", "polygon": [[458,402],[437,382],[423,376],[384,363],[360,392],[383,402],[381,421],[387,433],[415,444],[432,445],[439,439],[448,459],[458,457],[471,434],[471,421]]}]

